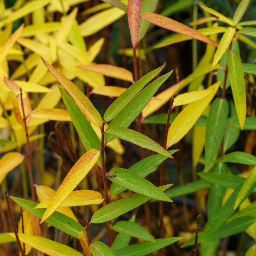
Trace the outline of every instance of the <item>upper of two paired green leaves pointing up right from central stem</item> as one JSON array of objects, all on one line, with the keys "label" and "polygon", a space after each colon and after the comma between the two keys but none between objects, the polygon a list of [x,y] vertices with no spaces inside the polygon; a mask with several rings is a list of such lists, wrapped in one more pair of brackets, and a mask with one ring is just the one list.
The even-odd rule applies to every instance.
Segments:
[{"label": "upper of two paired green leaves pointing up right from central stem", "polygon": [[140,80],[136,81],[132,84],[125,92],[123,92],[106,110],[104,114],[104,120],[110,121],[114,117],[116,117],[128,103],[143,89],[143,87],[151,81],[154,77],[156,77],[165,67],[166,64],[163,66],[158,67],[157,69],[147,73],[143,76]]}]

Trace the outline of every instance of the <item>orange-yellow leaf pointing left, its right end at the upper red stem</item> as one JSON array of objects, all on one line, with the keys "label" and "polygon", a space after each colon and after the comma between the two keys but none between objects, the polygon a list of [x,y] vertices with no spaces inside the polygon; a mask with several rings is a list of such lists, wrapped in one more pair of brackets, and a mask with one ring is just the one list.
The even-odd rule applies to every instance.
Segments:
[{"label": "orange-yellow leaf pointing left, its right end at the upper red stem", "polygon": [[117,79],[122,79],[125,81],[134,82],[131,71],[123,67],[116,67],[108,64],[81,65],[78,67],[85,70],[90,70],[96,73],[100,73],[104,76],[109,76]]}]

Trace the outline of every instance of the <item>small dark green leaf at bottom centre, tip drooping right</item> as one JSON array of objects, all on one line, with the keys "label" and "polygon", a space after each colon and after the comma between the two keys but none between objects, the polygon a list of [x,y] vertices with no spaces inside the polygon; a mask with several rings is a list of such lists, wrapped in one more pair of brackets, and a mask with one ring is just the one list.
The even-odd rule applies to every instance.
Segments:
[{"label": "small dark green leaf at bottom centre, tip drooping right", "polygon": [[109,226],[112,230],[128,236],[137,237],[146,241],[154,242],[154,237],[139,224],[130,221],[117,221],[114,226]]}]

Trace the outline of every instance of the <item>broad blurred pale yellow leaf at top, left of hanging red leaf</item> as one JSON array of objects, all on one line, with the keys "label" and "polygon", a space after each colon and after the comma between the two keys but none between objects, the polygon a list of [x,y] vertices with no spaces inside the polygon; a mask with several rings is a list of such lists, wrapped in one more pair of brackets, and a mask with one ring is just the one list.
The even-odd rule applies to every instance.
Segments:
[{"label": "broad blurred pale yellow leaf at top, left of hanging red leaf", "polygon": [[[93,35],[118,20],[123,15],[125,15],[125,12],[116,7],[99,12],[80,24],[81,36],[86,37]],[[102,20],[104,20],[104,22],[102,22]]]}]

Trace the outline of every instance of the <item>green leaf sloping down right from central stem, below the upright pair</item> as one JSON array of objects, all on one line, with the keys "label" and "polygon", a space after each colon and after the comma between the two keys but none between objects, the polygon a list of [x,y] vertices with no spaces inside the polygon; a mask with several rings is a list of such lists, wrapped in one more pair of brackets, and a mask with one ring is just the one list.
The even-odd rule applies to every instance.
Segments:
[{"label": "green leaf sloping down right from central stem, below the upright pair", "polygon": [[138,145],[142,148],[147,148],[149,150],[162,154],[166,157],[173,158],[172,155],[169,154],[158,143],[156,143],[154,140],[148,138],[144,134],[141,134],[137,131],[124,128],[124,127],[112,126],[112,127],[108,127],[105,133],[118,137],[122,140],[127,140],[135,145]]}]

